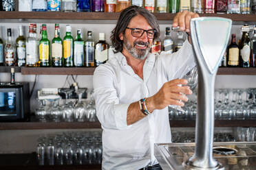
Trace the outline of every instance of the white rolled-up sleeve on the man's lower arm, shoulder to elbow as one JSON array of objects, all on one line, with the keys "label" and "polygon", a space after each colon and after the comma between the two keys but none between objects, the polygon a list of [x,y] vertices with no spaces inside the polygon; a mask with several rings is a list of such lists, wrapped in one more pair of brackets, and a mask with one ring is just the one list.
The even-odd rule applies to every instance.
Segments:
[{"label": "white rolled-up sleeve on the man's lower arm, shoulder to elbow", "polygon": [[108,129],[125,129],[127,110],[130,104],[120,104],[117,90],[114,88],[114,71],[100,65],[93,77],[96,115],[101,125]]}]

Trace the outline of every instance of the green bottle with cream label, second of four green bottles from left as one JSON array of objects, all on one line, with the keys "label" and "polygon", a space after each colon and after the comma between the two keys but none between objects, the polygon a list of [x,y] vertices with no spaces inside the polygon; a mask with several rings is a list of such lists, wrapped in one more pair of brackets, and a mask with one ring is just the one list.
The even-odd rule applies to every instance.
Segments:
[{"label": "green bottle with cream label, second of four green bottles from left", "polygon": [[63,66],[63,42],[60,38],[60,27],[55,24],[55,34],[52,39],[52,66]]}]

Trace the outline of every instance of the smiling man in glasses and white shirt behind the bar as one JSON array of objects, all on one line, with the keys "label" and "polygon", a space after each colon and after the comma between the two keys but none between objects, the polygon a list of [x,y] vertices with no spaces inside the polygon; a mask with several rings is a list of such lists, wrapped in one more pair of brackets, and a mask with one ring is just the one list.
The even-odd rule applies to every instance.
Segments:
[{"label": "smiling man in glasses and white shirt behind the bar", "polygon": [[[173,26],[189,32],[194,17],[198,14],[178,13]],[[117,53],[94,72],[96,112],[103,128],[103,169],[161,169],[153,145],[171,143],[167,106],[184,106],[188,100],[186,95],[192,91],[185,86],[186,80],[177,78],[195,62],[188,40],[177,53],[149,53],[159,34],[155,16],[145,8],[123,10],[111,32]]]}]

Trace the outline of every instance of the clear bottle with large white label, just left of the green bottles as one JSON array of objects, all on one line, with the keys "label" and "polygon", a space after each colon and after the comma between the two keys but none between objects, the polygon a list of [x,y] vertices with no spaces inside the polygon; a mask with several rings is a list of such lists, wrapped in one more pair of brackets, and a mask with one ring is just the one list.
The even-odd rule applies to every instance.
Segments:
[{"label": "clear bottle with large white label, just left of the green bottles", "polygon": [[28,38],[25,41],[26,66],[37,66],[39,62],[39,40],[36,38],[36,25],[30,24]]}]

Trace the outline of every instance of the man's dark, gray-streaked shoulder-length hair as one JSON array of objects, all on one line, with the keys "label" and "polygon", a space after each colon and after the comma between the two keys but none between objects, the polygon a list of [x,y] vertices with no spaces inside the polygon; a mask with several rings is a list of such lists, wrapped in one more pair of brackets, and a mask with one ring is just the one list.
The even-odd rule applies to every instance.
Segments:
[{"label": "man's dark, gray-streaked shoulder-length hair", "polygon": [[134,18],[134,16],[138,15],[144,16],[145,19],[147,19],[147,21],[149,22],[149,25],[156,30],[156,34],[154,35],[153,38],[155,39],[159,37],[160,29],[156,17],[145,8],[141,8],[136,5],[129,6],[125,10],[122,10],[118,19],[118,23],[111,32],[111,43],[115,48],[116,53],[122,51],[123,41],[120,40],[119,35],[121,33],[125,34],[125,29],[129,25],[131,19]]}]

